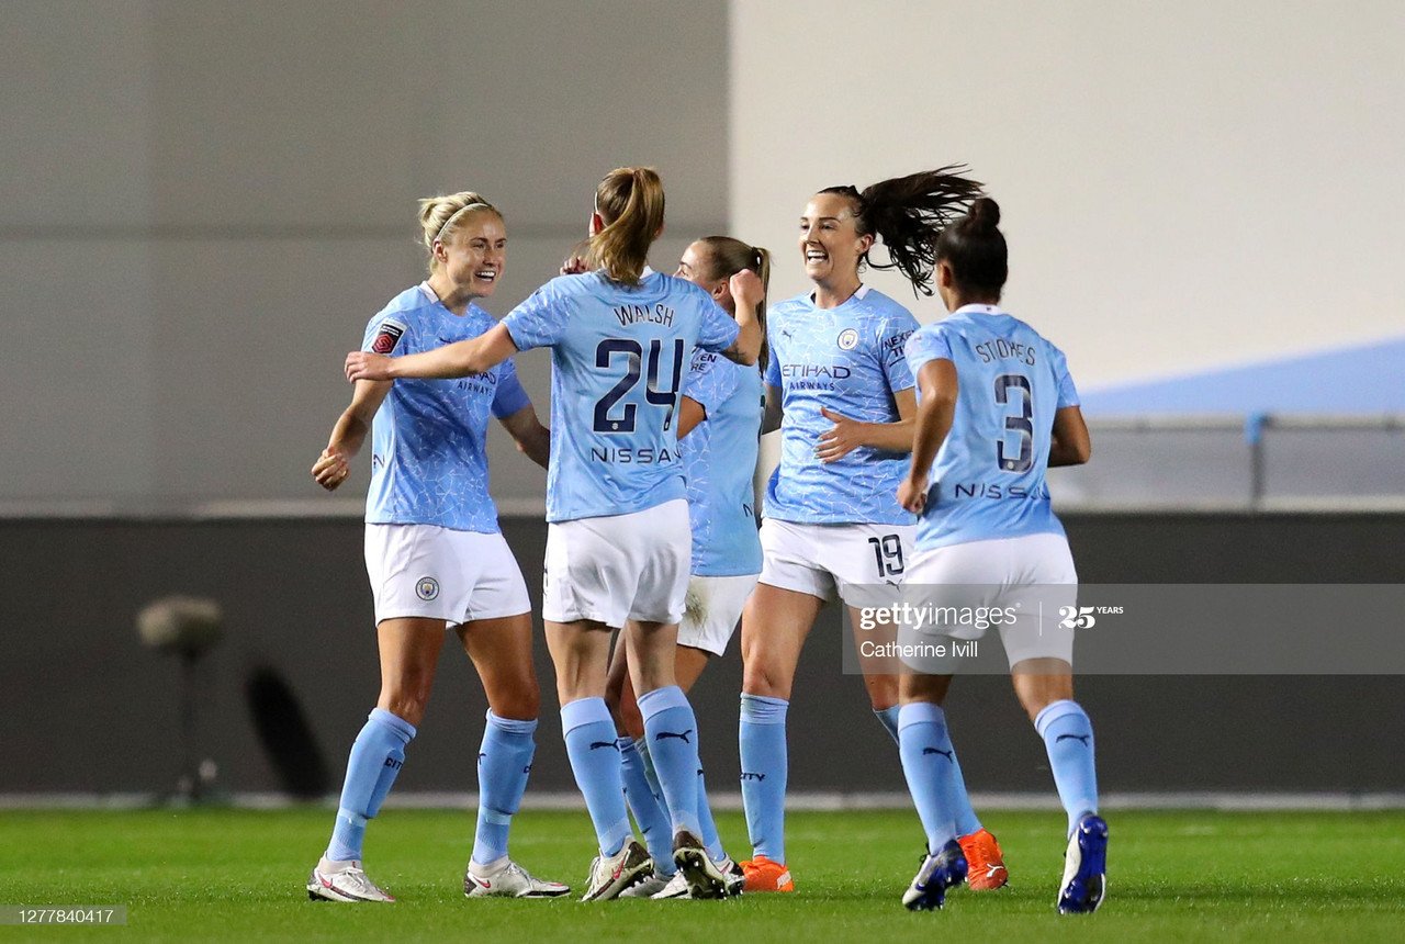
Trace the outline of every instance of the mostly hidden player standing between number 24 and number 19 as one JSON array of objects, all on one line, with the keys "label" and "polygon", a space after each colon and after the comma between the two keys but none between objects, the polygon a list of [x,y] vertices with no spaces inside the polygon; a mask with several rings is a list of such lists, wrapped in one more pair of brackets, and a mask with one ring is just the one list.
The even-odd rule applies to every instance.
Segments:
[{"label": "mostly hidden player standing between number 24 and number 19", "polygon": [[[679,278],[700,285],[726,312],[735,313],[729,280],[752,270],[766,291],[770,280],[770,253],[729,236],[707,236],[687,247],[679,260]],[[766,303],[756,316],[766,327]],[[752,478],[762,427],[762,375],[754,367],[733,364],[717,354],[697,351],[683,385],[679,410],[679,448],[688,482],[688,517],[693,525],[693,569],[688,580],[687,608],[679,625],[674,671],[679,687],[690,691],[714,656],[726,652],[736,631],[742,607],[756,586],[762,570],[762,544],[756,535],[756,497]],[[624,791],[635,822],[643,832],[653,875],[625,889],[627,898],[687,898],[688,886],[681,872],[669,874],[667,813],[658,798],[662,794],[652,775],[649,742],[643,736],[629,686],[622,646],[615,646],[607,691],[610,708],[618,715],[620,757],[624,763]],[[717,825],[707,802],[701,767],[698,768],[698,820],[702,843],[718,870],[733,886],[742,884],[742,870],[722,848]]]}]

